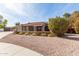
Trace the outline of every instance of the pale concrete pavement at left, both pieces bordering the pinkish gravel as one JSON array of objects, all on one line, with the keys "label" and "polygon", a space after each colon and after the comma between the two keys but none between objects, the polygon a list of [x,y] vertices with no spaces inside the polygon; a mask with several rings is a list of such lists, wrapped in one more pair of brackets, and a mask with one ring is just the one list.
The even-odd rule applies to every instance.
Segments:
[{"label": "pale concrete pavement at left, both pieces bordering the pinkish gravel", "polygon": [[[12,32],[0,32],[0,39]],[[30,49],[0,42],[0,56],[43,56]]]}]

